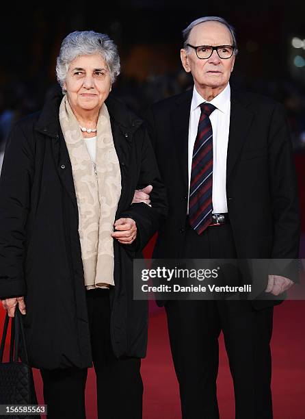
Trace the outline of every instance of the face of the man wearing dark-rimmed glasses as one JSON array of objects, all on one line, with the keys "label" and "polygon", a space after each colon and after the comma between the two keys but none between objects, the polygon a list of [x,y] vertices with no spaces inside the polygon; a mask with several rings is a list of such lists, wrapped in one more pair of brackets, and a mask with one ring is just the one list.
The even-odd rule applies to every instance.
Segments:
[{"label": "face of the man wearing dark-rimmed glasses", "polygon": [[[189,34],[190,45],[233,45],[232,35],[222,23],[209,21],[196,25]],[[219,58],[217,51],[207,60],[200,60],[196,51],[189,47],[188,51],[181,49],[181,61],[187,73],[191,73],[198,91],[204,88],[220,89],[226,87],[233,71],[235,55],[226,60]]]}]

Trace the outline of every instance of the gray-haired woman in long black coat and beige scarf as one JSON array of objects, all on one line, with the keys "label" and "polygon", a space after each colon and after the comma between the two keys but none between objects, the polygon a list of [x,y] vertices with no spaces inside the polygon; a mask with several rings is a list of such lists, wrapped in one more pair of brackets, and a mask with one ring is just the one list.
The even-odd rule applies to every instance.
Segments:
[{"label": "gray-haired woman in long black coat and beige scarf", "polygon": [[[165,190],[142,120],[109,96],[114,42],[62,42],[64,97],[20,120],[0,181],[0,297],[23,313],[31,366],[53,419],[85,418],[87,368],[98,418],[142,418],[147,303],[133,300],[133,257],[165,218]],[[152,186],[150,205],[131,205]]]}]

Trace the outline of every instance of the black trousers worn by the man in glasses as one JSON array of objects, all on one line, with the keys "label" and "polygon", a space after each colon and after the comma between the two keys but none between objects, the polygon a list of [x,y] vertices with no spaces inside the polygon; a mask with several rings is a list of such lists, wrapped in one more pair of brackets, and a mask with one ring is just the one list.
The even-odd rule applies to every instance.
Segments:
[{"label": "black trousers worn by the man in glasses", "polygon": [[[186,231],[185,258],[236,257],[230,225]],[[235,418],[271,419],[272,308],[250,301],[168,301],[165,305],[183,419],[217,419],[218,337],[224,333]]]}]

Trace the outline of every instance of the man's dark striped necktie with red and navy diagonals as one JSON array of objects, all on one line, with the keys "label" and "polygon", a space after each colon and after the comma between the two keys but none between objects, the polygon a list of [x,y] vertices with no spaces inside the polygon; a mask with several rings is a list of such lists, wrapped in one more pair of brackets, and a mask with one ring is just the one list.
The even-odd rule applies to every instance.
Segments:
[{"label": "man's dark striped necktie with red and navy diagonals", "polygon": [[189,224],[198,234],[212,221],[213,130],[209,116],[216,107],[202,103],[200,108],[189,186]]}]

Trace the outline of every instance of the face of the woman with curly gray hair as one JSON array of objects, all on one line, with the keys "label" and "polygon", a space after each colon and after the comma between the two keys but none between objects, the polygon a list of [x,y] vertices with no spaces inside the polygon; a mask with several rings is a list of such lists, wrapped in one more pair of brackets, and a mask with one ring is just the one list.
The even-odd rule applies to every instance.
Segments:
[{"label": "face of the woman with curly gray hair", "polygon": [[73,110],[98,112],[111,90],[111,77],[103,57],[96,53],[72,60],[64,88]]}]

